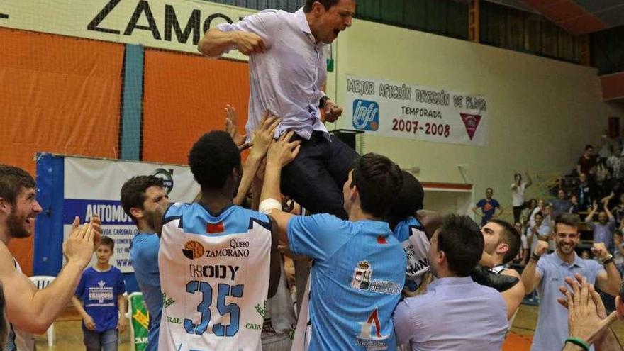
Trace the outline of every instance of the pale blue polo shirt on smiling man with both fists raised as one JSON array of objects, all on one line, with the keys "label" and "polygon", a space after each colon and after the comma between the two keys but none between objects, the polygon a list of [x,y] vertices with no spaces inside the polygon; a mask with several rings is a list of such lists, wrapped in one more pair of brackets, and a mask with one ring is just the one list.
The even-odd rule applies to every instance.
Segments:
[{"label": "pale blue polo shirt on smiling man with both fists raised", "polygon": [[589,284],[596,284],[596,277],[601,272],[606,272],[601,264],[594,260],[584,260],[576,254],[572,265],[563,262],[557,252],[537,261],[537,273],[542,276],[537,286],[540,313],[531,351],[561,350],[569,337],[568,310],[557,302],[557,298],[563,296],[559,286],[567,286],[565,277],[574,277],[574,274],[579,273],[586,277]]}]

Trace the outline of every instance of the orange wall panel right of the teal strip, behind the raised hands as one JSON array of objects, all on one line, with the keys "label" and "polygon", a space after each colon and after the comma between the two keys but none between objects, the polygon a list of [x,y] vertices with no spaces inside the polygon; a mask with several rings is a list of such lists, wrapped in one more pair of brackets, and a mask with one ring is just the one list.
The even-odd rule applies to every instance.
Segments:
[{"label": "orange wall panel right of the teal strip, behind the raised hands", "polygon": [[143,160],[188,163],[193,143],[223,130],[225,105],[244,133],[249,99],[247,62],[145,50]]}]

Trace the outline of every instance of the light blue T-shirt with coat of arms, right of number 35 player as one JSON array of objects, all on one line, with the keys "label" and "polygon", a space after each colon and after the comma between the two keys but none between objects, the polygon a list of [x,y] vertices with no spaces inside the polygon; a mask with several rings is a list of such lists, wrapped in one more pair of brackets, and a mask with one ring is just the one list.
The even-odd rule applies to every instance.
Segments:
[{"label": "light blue T-shirt with coat of arms, right of number 35 player", "polygon": [[388,223],[296,216],[288,238],[295,255],[314,260],[308,350],[396,350],[391,316],[406,258]]}]

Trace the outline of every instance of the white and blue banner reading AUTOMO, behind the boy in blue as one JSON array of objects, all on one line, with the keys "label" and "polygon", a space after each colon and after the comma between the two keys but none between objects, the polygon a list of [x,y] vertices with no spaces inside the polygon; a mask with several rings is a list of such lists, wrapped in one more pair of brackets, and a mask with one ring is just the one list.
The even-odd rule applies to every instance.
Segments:
[{"label": "white and blue banner reading AUTOMO, behind the boy in blue", "polygon": [[[133,272],[130,243],[138,232],[136,225],[121,207],[119,192],[126,180],[136,175],[154,174],[165,179],[172,201],[191,202],[199,193],[199,184],[189,167],[158,163],[65,157],[65,192],[63,199],[63,235],[67,240],[74,216],[89,221],[98,214],[102,235],[115,241],[111,264],[121,272]],[[95,263],[96,258],[91,263]]]}]

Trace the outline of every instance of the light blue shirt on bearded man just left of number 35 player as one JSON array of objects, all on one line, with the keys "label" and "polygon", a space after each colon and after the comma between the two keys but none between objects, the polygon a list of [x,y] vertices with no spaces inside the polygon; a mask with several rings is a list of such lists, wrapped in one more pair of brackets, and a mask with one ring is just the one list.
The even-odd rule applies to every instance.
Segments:
[{"label": "light blue shirt on bearded man just left of number 35 player", "polygon": [[155,233],[138,233],[130,243],[130,261],[132,261],[134,275],[143,294],[147,311],[150,311],[150,333],[147,335],[145,351],[158,350],[158,330],[162,310],[158,247],[160,247],[160,238]]}]

